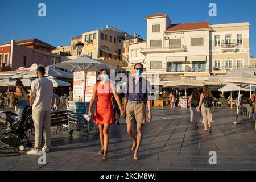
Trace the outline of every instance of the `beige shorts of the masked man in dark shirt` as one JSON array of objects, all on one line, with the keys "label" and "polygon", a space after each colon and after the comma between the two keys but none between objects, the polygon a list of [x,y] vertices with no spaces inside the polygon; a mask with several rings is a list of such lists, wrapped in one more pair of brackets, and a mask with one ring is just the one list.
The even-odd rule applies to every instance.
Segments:
[{"label": "beige shorts of the masked man in dark shirt", "polygon": [[138,124],[146,122],[146,105],[144,102],[139,104],[127,103],[126,106],[126,123],[134,123],[134,118]]}]

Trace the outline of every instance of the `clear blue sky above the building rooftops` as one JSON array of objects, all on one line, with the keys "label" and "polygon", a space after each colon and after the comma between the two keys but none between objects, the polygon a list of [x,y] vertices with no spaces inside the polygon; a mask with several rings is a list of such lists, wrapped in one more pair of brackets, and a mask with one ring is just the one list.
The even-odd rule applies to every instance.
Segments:
[{"label": "clear blue sky above the building rooftops", "polygon": [[[46,3],[46,17],[38,16],[38,4]],[[217,17],[208,15],[208,5],[217,4]],[[146,37],[144,16],[164,13],[173,23],[209,20],[211,24],[250,22],[250,52],[256,56],[255,0],[0,0],[0,44],[11,39],[38,38],[53,46],[68,45],[82,32],[105,27],[106,24],[130,34]]]}]

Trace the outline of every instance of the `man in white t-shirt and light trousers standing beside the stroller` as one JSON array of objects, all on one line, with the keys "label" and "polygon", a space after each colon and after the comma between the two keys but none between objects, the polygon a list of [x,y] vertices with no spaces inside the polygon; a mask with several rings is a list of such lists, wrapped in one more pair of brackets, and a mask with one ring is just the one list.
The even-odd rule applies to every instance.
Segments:
[{"label": "man in white t-shirt and light trousers standing beside the stroller", "polygon": [[42,130],[46,131],[46,143],[42,151],[49,152],[51,146],[51,98],[53,94],[53,84],[44,78],[46,69],[38,67],[36,70],[38,78],[32,81],[30,90],[30,106],[32,106],[32,118],[35,126],[35,146],[27,154],[38,155],[38,148],[42,142]]}]

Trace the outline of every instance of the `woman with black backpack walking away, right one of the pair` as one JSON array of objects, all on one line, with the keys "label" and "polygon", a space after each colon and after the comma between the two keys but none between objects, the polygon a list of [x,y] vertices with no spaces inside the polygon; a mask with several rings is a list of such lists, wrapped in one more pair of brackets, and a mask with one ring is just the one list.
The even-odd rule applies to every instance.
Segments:
[{"label": "woman with black backpack walking away, right one of the pair", "polygon": [[212,130],[212,126],[210,125],[210,123],[213,122],[212,113],[211,113],[212,101],[213,101],[213,96],[209,90],[209,86],[204,85],[203,93],[201,93],[201,96],[200,96],[199,106],[197,107],[199,110],[201,109],[201,114],[202,114],[203,123],[204,123],[204,131],[207,131],[207,123],[209,126],[208,129]]}]

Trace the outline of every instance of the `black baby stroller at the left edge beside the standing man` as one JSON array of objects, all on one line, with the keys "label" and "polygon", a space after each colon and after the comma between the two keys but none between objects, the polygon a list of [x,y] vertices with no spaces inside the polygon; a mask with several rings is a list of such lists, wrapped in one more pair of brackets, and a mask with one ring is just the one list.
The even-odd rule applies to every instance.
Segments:
[{"label": "black baby stroller at the left edge beside the standing man", "polygon": [[14,147],[14,152],[18,153],[25,150],[25,146],[32,147],[26,135],[27,131],[32,133],[34,123],[32,121],[32,108],[28,105],[25,107],[22,117],[15,121],[17,115],[13,112],[0,113],[0,125],[5,125],[5,131],[0,134],[0,142],[9,147]]}]

